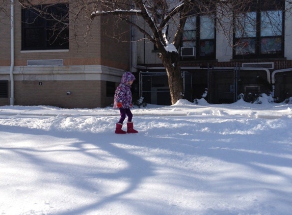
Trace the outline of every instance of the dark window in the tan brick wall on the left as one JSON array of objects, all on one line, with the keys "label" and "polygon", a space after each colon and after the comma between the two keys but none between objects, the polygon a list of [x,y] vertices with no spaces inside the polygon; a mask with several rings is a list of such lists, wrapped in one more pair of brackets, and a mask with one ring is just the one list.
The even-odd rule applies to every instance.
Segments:
[{"label": "dark window in the tan brick wall on the left", "polygon": [[69,48],[68,4],[22,9],[22,50]]}]

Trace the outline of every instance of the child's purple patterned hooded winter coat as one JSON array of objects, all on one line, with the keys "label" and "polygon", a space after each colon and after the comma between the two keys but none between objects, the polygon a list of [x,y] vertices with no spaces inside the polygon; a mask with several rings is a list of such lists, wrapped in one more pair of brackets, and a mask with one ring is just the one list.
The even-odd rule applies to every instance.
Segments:
[{"label": "child's purple patterned hooded winter coat", "polygon": [[121,79],[121,84],[117,87],[114,97],[114,108],[119,108],[117,106],[118,102],[121,102],[122,108],[130,108],[132,103],[132,93],[131,86],[127,83],[131,80],[135,80],[134,74],[130,72],[125,72]]}]

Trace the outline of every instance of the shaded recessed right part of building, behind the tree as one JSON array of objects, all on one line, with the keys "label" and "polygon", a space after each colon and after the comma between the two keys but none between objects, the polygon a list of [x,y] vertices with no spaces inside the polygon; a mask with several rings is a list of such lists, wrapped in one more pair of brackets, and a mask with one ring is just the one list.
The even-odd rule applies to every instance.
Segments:
[{"label": "shaded recessed right part of building, behind the tree", "polygon": [[[209,103],[232,103],[239,95],[247,101],[261,93],[279,102],[292,97],[291,5],[282,0],[254,3],[252,10],[242,13],[244,28],[232,32],[232,26],[225,26],[230,35],[215,28],[216,19],[204,13],[190,15],[179,49],[186,99],[207,94]],[[141,41],[137,50],[140,95],[147,103],[170,104],[165,68],[155,47]]]}]

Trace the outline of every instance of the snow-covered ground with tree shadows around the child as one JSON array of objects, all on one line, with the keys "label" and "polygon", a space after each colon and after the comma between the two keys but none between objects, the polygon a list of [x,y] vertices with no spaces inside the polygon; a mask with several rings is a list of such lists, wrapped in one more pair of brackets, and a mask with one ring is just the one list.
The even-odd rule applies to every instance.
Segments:
[{"label": "snow-covered ground with tree shadows around the child", "polygon": [[[287,215],[292,104],[0,106],[0,214]],[[125,129],[125,126],[124,126]]]}]

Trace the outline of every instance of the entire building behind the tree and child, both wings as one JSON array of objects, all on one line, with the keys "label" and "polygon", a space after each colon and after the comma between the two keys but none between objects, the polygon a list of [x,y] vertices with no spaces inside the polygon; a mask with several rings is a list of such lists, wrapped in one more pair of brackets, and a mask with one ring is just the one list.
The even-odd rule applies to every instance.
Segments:
[{"label": "entire building behind the tree and child, both wings", "polygon": [[[269,0],[277,7],[265,8],[261,1],[267,2],[256,1],[258,7],[248,12],[251,25],[227,36],[231,43],[214,20],[203,14],[190,16],[179,49],[186,99],[205,94],[209,103],[231,103],[239,95],[247,101],[261,93],[272,94],[275,101],[292,97],[291,6]],[[57,6],[61,15],[72,8]],[[114,32],[113,17],[97,16],[83,39],[87,20],[79,20],[76,28],[69,16],[68,30],[51,41],[49,18],[32,22],[36,13],[17,4],[13,11],[13,33],[10,17],[0,14],[0,105],[104,107],[112,103],[124,70],[136,74],[135,96],[143,96],[147,103],[170,104],[157,50],[129,25],[120,24]],[[113,39],[114,35],[123,38]]]}]

